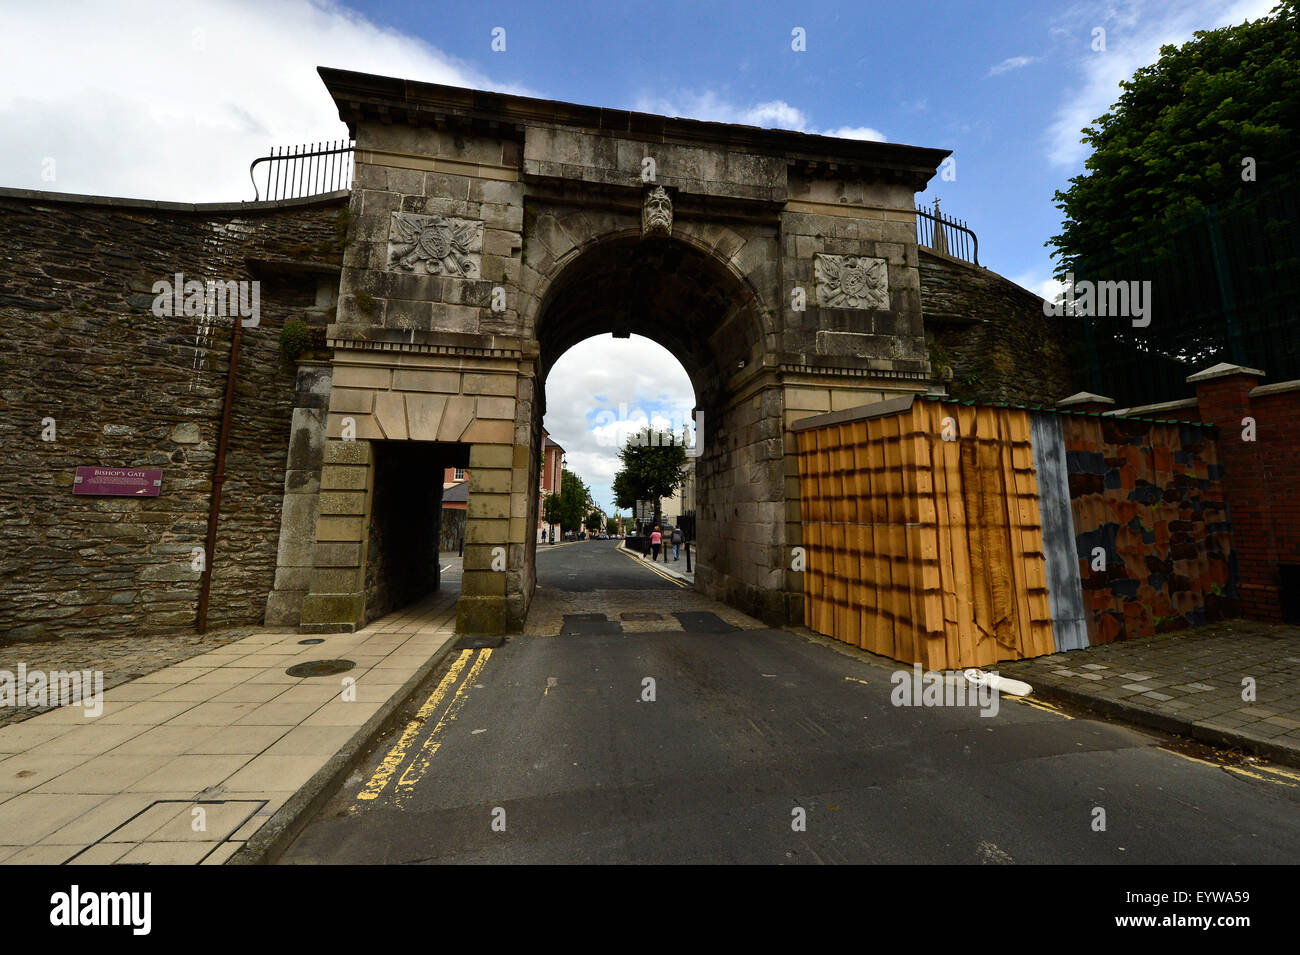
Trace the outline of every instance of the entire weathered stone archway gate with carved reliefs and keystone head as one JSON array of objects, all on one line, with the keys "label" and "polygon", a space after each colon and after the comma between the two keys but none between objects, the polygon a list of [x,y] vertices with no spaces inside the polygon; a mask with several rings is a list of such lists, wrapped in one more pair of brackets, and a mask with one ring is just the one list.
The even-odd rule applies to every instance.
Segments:
[{"label": "entire weathered stone archway gate with carved reliefs and keystone head", "polygon": [[913,209],[948,152],[320,74],[356,166],[302,628],[368,618],[377,443],[445,442],[471,469],[458,629],[519,629],[545,374],[599,331],[656,338],[696,383],[697,587],[802,622],[789,426],[935,390]]}]

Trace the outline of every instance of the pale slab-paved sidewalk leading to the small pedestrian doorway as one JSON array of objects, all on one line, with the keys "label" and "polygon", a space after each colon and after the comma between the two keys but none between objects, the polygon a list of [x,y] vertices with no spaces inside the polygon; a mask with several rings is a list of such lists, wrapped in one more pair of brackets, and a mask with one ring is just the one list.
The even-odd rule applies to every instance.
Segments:
[{"label": "pale slab-paved sidewalk leading to the small pedestrian doorway", "polygon": [[[256,860],[451,648],[456,596],[354,634],[254,633],[105,691],[99,716],[0,726],[0,863]],[[355,665],[286,673],[329,659]]]}]

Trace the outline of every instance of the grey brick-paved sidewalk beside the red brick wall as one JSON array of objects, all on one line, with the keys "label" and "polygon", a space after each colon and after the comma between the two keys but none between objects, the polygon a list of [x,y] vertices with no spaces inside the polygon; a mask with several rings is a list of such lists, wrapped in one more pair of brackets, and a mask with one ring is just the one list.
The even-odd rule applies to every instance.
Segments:
[{"label": "grey brick-paved sidewalk beside the red brick wall", "polygon": [[1300,628],[1232,620],[997,669],[1035,696],[1300,765]]}]

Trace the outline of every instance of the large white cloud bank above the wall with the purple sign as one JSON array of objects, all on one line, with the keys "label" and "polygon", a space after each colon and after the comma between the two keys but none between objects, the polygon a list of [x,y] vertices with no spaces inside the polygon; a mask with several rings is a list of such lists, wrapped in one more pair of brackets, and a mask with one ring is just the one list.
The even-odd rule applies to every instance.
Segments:
[{"label": "large white cloud bank above the wall with the purple sign", "polygon": [[500,88],[332,0],[5,4],[0,36],[0,185],[21,188],[252,199],[270,146],[347,135],[318,65]]}]

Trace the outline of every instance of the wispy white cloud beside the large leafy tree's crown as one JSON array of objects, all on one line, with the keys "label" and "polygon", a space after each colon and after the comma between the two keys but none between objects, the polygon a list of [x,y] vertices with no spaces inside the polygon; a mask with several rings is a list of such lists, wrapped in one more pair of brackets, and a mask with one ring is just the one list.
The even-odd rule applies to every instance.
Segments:
[{"label": "wispy white cloud beside the large leafy tree's crown", "polygon": [[[1066,95],[1048,127],[1048,159],[1060,166],[1075,166],[1088,156],[1079,142],[1082,130],[1119,99],[1119,82],[1160,58],[1161,45],[1180,45],[1196,30],[1213,30],[1265,16],[1277,0],[1089,0],[1075,4],[1050,32],[1069,53],[1082,79]],[[1105,30],[1105,51],[1093,52],[1093,29]]]}]

